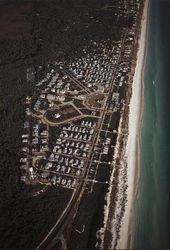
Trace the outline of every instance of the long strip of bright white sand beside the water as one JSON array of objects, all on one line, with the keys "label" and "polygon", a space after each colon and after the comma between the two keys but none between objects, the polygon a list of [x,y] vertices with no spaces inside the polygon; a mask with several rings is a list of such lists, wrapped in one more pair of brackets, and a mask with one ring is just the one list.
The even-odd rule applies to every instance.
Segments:
[{"label": "long strip of bright white sand beside the water", "polygon": [[148,23],[148,6],[149,1],[146,0],[141,23],[141,36],[139,39],[139,49],[137,53],[137,64],[133,78],[132,98],[130,101],[129,113],[129,135],[126,147],[127,156],[127,204],[123,216],[120,239],[117,249],[130,249],[132,246],[132,230],[133,230],[133,207],[139,181],[139,136],[142,121],[143,110],[143,81],[144,81],[144,64],[146,54],[146,37]]}]

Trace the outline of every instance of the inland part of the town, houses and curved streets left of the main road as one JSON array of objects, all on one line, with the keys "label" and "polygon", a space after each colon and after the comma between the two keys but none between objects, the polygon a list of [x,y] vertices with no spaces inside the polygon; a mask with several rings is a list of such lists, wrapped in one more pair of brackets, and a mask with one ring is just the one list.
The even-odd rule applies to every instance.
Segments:
[{"label": "inland part of the town, houses and curved streets left of the main road", "polygon": [[[25,173],[25,178],[21,178],[22,181],[34,184],[36,182],[62,184],[72,188],[71,184],[67,185],[68,179],[71,183],[74,182],[75,188],[75,183],[83,175],[83,167],[87,164],[93,145],[100,110],[106,102],[114,64],[120,53],[120,48],[113,49],[115,45],[110,42],[93,43],[93,46],[96,48],[94,55],[69,62],[65,68],[62,66],[62,70],[55,69],[53,65],[46,78],[37,84],[40,94],[34,100],[34,105],[31,101],[26,103],[28,116],[26,129],[29,128],[29,130],[27,134],[22,135],[22,153],[27,155],[28,160],[27,167],[21,171],[22,174]],[[104,53],[101,54],[101,51]],[[122,82],[122,85],[125,83]],[[95,93],[95,101],[93,93]],[[111,112],[118,112],[120,109],[119,95],[117,91],[110,97],[108,103],[110,119]],[[31,124],[29,124],[30,120]],[[70,121],[72,125],[69,124]],[[57,133],[53,138],[50,131],[55,129]],[[107,131],[107,128],[105,130]],[[98,143],[101,144],[100,140]],[[102,147],[103,154],[107,156],[109,145],[101,145]],[[97,159],[96,156],[95,159]],[[34,173],[31,178],[30,169]],[[54,178],[59,179],[54,181]]]}]

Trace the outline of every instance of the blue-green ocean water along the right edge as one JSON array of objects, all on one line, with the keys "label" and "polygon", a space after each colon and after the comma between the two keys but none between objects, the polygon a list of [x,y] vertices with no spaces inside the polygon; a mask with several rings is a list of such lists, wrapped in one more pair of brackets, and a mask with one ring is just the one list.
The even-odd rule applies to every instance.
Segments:
[{"label": "blue-green ocean water along the right edge", "polygon": [[169,0],[150,0],[133,249],[169,247]]}]

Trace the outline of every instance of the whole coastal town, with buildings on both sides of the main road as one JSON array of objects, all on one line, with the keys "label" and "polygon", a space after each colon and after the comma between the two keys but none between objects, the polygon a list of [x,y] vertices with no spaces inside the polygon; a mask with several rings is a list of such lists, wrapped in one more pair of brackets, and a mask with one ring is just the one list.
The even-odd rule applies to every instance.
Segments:
[{"label": "whole coastal town, with buildings on both sides of the main road", "polygon": [[[136,10],[132,8],[132,11]],[[118,129],[129,83],[134,27],[127,29],[118,42],[91,41],[82,57],[48,65],[49,72],[36,84],[39,96],[26,99],[28,119],[24,123],[21,159],[24,155],[27,160],[25,168],[20,166],[22,182],[62,183],[72,188],[67,181],[78,183],[84,178],[88,161],[95,162],[94,178],[102,161],[112,161],[116,142],[113,131]],[[27,74],[28,80],[33,80],[34,71],[28,69]],[[97,131],[103,106],[107,107],[105,120]],[[91,152],[96,133],[99,148]],[[105,136],[109,143],[103,143]]]}]

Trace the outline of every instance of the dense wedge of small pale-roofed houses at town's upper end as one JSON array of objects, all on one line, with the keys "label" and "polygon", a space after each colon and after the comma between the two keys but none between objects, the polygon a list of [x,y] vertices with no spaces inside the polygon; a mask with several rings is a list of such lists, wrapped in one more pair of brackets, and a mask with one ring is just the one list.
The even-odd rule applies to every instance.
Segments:
[{"label": "dense wedge of small pale-roofed houses at town's upper end", "polygon": [[96,91],[103,85],[103,91],[107,92],[120,47],[111,44],[106,49],[106,44],[102,43],[95,43],[95,46],[96,51],[70,62],[68,68],[86,87]]}]

